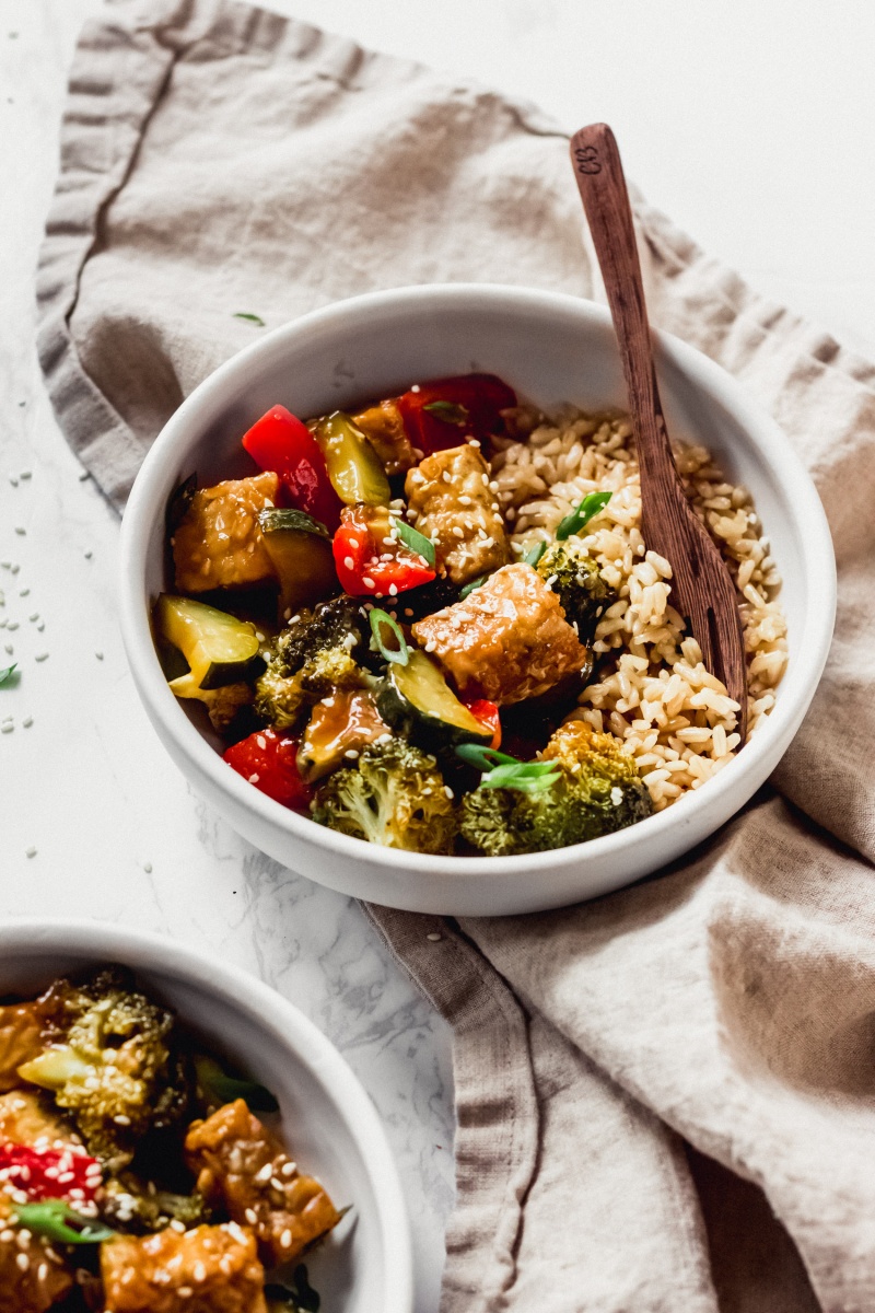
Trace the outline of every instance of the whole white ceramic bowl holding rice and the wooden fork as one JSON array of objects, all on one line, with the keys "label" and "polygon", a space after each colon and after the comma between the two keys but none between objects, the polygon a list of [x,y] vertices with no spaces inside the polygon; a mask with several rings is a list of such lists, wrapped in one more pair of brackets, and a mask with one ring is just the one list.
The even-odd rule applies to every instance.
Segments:
[{"label": "whole white ceramic bowl holding rice and the wooden fork", "polygon": [[[407,389],[416,379],[487,370],[550,408],[624,406],[607,311],[547,291],[488,285],[401,288],[357,297],[266,334],[218,369],[159,435],[122,525],[119,609],[134,681],[168,752],[247,839],[312,880],[413,911],[496,915],[558,907],[630,884],[699,843],[778,764],[813,696],[833,629],[832,541],[808,474],[778,427],[704,356],[657,335],[670,431],[706,444],[746,484],[783,574],[790,662],[774,712],[743,752],[674,807],[572,848],[525,857],[438,857],[335,834],[230,769],[169,692],[152,645],[150,604],[164,579],[164,507],[180,479],[240,475],[245,429],[270,406],[302,416]],[[198,709],[199,710],[199,709]]]}]

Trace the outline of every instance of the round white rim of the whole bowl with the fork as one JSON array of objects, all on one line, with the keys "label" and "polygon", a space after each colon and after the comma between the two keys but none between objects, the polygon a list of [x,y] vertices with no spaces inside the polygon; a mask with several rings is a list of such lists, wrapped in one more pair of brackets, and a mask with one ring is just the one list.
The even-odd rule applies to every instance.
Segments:
[{"label": "round white rim of the whole bowl with the fork", "polygon": [[[254,361],[270,356],[282,357],[302,334],[324,332],[335,327],[354,334],[363,328],[375,312],[392,307],[418,307],[425,314],[432,303],[441,309],[455,306],[459,310],[496,311],[506,310],[510,302],[519,311],[548,312],[559,318],[577,319],[584,326],[586,322],[602,328],[611,324],[607,307],[594,301],[506,284],[416,284],[332,302],[270,330],[219,365],[190,393],[147,453],[122,519],[119,545],[122,638],[134,681],[151,718],[160,726],[163,734],[178,746],[195,769],[202,772],[219,793],[230,794],[235,805],[253,811],[262,823],[285,831],[290,839],[314,843],[341,859],[361,860],[365,840],[319,826],[310,817],[290,811],[252,788],[237,772],[227,768],[219,754],[181,712],[171,693],[155,651],[148,607],[142,600],[148,538],[153,524],[150,517],[150,504],[155,499],[153,490],[163,483],[164,465],[168,460],[172,461],[177,441],[185,435],[202,404],[220,390],[241,389]],[[567,848],[509,857],[441,856],[375,848],[374,844],[369,844],[367,856],[371,863],[395,872],[439,874],[443,881],[447,877],[450,881],[464,881],[476,873],[480,882],[491,884],[500,882],[504,876],[518,876],[523,869],[537,876],[547,868],[555,872],[571,865],[582,865],[588,857],[619,861],[630,847],[647,840],[657,843],[660,836],[678,822],[683,821],[691,827],[704,809],[719,810],[720,797],[736,792],[741,785],[743,772],[756,775],[760,768],[765,777],[782,755],[781,741],[788,744],[799,727],[826,662],[836,613],[836,562],[824,508],[811,475],[786,435],[765,410],[748,398],[737,379],[681,339],[660,330],[652,332],[657,372],[662,362],[690,378],[712,402],[733,415],[741,427],[757,435],[758,453],[774,482],[792,483],[792,519],[796,528],[804,525],[804,533],[799,533],[802,542],[799,566],[805,576],[807,596],[816,597],[817,605],[805,607],[803,629],[795,645],[796,659],[781,681],[781,696],[774,710],[765,717],[744,751],[701,789],[687,793],[680,806],[666,807],[615,834]],[[775,760],[766,765],[771,756]],[[708,832],[714,829],[715,826],[710,826]]]}]

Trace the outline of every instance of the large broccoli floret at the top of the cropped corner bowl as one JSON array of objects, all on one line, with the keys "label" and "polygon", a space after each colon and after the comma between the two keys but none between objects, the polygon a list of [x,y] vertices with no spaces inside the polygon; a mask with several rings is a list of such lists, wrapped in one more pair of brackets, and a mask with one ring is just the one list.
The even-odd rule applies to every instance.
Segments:
[{"label": "large broccoli floret at the top of the cropped corner bowl", "polygon": [[108,1171],[125,1167],[148,1130],[177,1125],[189,1109],[189,1064],[174,1018],[112,968],[80,985],[56,981],[45,995],[49,1046],[18,1075],[54,1094],[88,1152]]}]

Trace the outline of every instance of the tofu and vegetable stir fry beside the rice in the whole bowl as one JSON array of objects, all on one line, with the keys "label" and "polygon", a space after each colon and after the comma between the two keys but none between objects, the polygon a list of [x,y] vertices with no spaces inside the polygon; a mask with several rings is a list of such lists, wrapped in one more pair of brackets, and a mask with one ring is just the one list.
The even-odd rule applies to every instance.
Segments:
[{"label": "tofu and vegetable stir fry beside the rice in the whole bowl", "polygon": [[496,482],[514,416],[513,389],[481,373],[350,412],[274,406],[243,437],[261,473],[176,491],[176,592],[155,612],[171,688],[206,704],[224,762],[278,805],[388,847],[495,855],[645,814],[610,734],[577,746],[594,780],[605,742],[621,754],[622,806],[546,751],[617,600],[582,540],[611,491],[514,559]]}]

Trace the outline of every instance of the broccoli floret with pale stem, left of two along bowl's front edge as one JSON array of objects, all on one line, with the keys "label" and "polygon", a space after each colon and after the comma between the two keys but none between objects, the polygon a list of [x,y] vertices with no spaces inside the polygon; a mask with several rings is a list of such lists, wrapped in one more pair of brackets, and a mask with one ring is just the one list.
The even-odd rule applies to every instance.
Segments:
[{"label": "broccoli floret with pale stem, left of two along bowl's front edge", "polygon": [[329,776],[316,793],[314,819],[409,852],[451,852],[458,831],[436,759],[404,739],[374,743],[356,767]]}]

